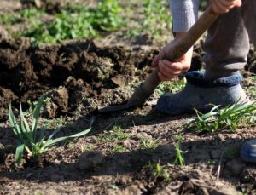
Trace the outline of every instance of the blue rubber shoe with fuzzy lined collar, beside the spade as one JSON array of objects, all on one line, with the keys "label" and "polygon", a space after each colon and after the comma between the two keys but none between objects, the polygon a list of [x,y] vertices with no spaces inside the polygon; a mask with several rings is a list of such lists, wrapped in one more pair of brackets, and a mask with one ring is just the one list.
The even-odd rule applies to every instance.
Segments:
[{"label": "blue rubber shoe with fuzzy lined collar, beside the spade", "polygon": [[210,80],[204,78],[204,72],[188,72],[185,75],[187,84],[177,93],[162,95],[156,109],[171,115],[210,111],[213,105],[229,106],[235,103],[247,103],[246,93],[241,88],[242,76],[236,73],[229,77]]}]

